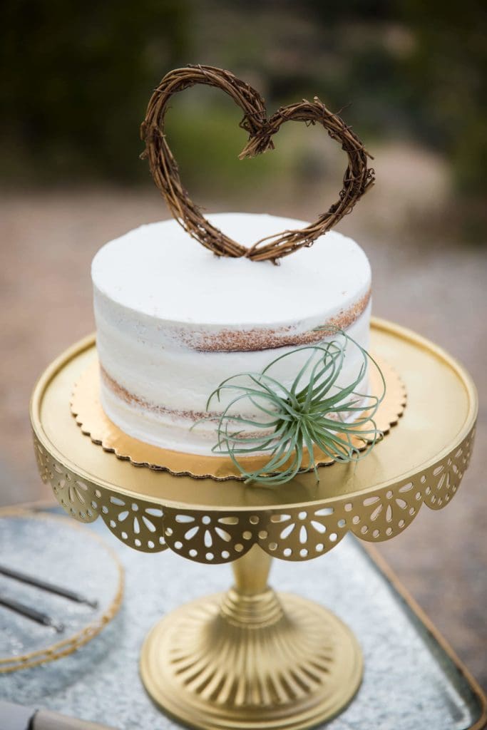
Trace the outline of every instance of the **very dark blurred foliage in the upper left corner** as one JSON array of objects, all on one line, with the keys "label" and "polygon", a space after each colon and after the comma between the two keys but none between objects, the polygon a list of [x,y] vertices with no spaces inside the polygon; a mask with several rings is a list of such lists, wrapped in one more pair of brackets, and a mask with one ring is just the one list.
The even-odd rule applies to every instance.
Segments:
[{"label": "very dark blurred foliage in the upper left corner", "polygon": [[187,53],[185,2],[4,0],[1,28],[4,173],[141,174],[149,91]]}]

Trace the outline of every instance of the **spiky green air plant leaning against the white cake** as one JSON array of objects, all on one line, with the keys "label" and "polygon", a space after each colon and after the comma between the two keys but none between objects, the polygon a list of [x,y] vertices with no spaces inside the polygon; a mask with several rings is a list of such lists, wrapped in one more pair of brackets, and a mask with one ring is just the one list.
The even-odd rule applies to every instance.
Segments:
[{"label": "spiky green air plant leaning against the white cake", "polygon": [[[245,477],[245,483],[284,484],[303,469],[306,453],[309,466],[305,470],[313,470],[318,481],[314,445],[334,461],[347,463],[367,456],[377,439],[383,436],[374,420],[386,393],[380,367],[367,350],[344,331],[329,326],[317,328],[317,331],[323,331],[323,338],[332,336],[333,339],[329,342],[323,339],[317,344],[284,353],[261,372],[233,375],[223,380],[207,401],[207,410],[210,410],[212,400],[220,401],[223,391],[234,393],[219,417],[218,441],[212,451],[229,456]],[[348,347],[357,348],[361,355],[360,366],[356,377],[339,387],[337,380]],[[286,388],[272,377],[272,368],[284,358],[302,352],[309,353],[309,356],[291,387]],[[383,386],[380,396],[357,391],[369,363],[380,375]],[[235,415],[237,410],[245,411],[245,402],[258,411],[258,420]],[[244,408],[239,408],[240,404]],[[239,457],[251,454],[268,454],[269,459],[259,469],[249,471]]]}]

